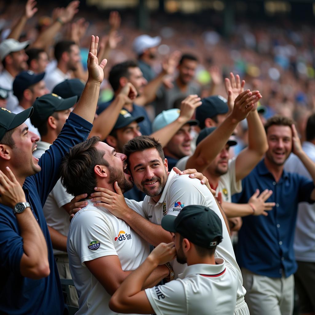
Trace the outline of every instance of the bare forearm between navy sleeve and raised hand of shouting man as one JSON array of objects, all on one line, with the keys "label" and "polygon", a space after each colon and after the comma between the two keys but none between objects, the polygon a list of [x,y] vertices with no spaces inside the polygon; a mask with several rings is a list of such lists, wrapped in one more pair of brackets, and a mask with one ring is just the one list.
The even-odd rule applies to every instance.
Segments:
[{"label": "bare forearm between navy sleeve and raised hand of shouting man", "polygon": [[100,93],[100,83],[88,80],[73,112],[90,123],[93,123],[96,105]]}]

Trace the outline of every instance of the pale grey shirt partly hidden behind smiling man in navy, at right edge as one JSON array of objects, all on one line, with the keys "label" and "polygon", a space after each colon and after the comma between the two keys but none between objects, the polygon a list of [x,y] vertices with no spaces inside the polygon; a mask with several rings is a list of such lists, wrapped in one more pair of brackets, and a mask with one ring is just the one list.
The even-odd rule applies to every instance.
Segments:
[{"label": "pale grey shirt partly hidden behind smiling man in navy, at right edge", "polygon": [[[315,162],[315,145],[305,141],[302,145],[306,155]],[[284,164],[288,172],[298,173],[312,179],[301,160],[293,153]],[[294,252],[297,261],[315,262],[315,203],[299,203],[295,226]]]}]

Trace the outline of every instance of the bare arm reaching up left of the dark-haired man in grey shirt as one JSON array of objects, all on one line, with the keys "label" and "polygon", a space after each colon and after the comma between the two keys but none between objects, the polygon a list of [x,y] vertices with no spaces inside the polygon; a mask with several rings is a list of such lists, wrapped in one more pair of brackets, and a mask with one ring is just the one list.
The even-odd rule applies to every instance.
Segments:
[{"label": "bare arm reaching up left of the dark-haired man in grey shirt", "polygon": [[180,58],[180,52],[173,52],[170,57],[163,62],[163,70],[150,81],[146,87],[143,89],[143,93],[135,100],[135,103],[140,106],[145,106],[153,100],[155,100],[157,90],[163,83],[163,78],[166,75],[173,74],[176,66],[178,65],[178,60]]}]

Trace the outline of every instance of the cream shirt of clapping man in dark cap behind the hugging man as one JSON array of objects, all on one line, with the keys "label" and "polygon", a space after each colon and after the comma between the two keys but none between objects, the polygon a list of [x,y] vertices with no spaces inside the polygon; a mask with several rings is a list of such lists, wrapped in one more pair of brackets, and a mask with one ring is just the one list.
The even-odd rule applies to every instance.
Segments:
[{"label": "cream shirt of clapping man in dark cap behind the hugging man", "polygon": [[[176,167],[180,170],[186,169],[186,164],[189,156],[181,158],[177,163]],[[232,202],[232,195],[242,191],[242,180],[236,181],[235,175],[235,164],[236,158],[233,157],[228,161],[228,169],[226,174],[223,174],[219,178],[218,186],[215,192],[222,193],[222,200]]]}]

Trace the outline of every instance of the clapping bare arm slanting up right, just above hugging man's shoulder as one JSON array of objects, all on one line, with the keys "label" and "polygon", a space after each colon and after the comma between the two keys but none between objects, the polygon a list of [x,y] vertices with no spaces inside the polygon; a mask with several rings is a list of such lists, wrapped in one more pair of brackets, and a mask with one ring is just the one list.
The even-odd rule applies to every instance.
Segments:
[{"label": "clapping bare arm slanting up right, just above hugging man's shoulder", "polygon": [[[229,98],[231,97],[232,92],[229,91]],[[219,127],[198,144],[194,154],[187,160],[186,167],[196,168],[198,172],[203,172],[225,146],[237,124],[248,116],[255,102],[260,98],[259,91],[246,90],[238,95],[232,112]]]}]

